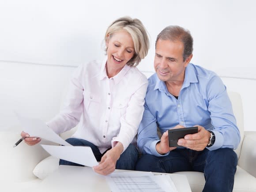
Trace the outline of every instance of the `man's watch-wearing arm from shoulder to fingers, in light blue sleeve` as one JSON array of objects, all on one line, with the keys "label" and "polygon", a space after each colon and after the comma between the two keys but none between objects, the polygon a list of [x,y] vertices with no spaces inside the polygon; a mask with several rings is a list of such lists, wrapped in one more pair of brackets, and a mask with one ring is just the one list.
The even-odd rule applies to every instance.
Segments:
[{"label": "man's watch-wearing arm from shoulder to fingers, in light blue sleeve", "polygon": [[217,75],[214,75],[207,83],[205,94],[211,124],[214,126],[211,131],[215,134],[215,143],[211,147],[207,147],[210,132],[204,127],[196,125],[199,127],[198,133],[179,139],[178,144],[196,151],[202,151],[205,147],[211,151],[225,147],[236,149],[240,142],[240,132],[226,87]]}]

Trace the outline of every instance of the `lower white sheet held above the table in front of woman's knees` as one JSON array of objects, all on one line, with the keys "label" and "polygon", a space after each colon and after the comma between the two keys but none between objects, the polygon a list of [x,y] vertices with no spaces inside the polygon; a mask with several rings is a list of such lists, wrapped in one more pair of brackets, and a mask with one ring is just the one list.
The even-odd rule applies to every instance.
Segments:
[{"label": "lower white sheet held above the table in front of woman's knees", "polygon": [[90,147],[41,145],[45,151],[56,158],[84,166],[97,166],[98,162]]}]

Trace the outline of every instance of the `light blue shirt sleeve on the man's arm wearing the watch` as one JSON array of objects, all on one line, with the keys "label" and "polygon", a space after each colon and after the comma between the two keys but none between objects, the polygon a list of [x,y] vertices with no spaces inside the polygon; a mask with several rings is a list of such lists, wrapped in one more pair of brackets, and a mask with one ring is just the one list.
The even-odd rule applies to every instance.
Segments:
[{"label": "light blue shirt sleeve on the man's arm wearing the watch", "polygon": [[226,87],[218,76],[213,77],[207,87],[208,110],[211,113],[211,124],[214,126],[212,132],[215,134],[215,143],[208,149],[236,149],[240,143],[240,132]]}]

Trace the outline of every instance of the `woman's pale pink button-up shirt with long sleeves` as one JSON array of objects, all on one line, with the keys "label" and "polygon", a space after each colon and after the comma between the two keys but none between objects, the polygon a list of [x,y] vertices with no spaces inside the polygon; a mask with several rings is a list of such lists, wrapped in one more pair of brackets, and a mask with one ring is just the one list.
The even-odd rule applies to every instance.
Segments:
[{"label": "woman's pale pink button-up shirt with long sleeves", "polygon": [[93,143],[101,153],[118,141],[124,150],[132,143],[148,85],[146,76],[128,65],[109,79],[105,64],[106,58],[80,65],[71,79],[64,108],[47,122],[58,134],[79,123],[72,137]]}]

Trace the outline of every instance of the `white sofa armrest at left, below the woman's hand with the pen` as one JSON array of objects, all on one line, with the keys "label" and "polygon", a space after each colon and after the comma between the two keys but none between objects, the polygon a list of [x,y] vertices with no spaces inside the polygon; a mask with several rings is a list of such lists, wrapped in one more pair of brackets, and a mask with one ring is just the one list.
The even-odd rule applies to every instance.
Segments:
[{"label": "white sofa armrest at left, below the woman's hand with the pen", "polygon": [[[37,144],[28,146],[24,141],[13,148],[20,139],[20,133],[0,131],[0,181],[31,181],[37,177],[33,174],[34,167],[49,154]],[[49,144],[41,141],[40,143]],[[52,142],[51,142],[52,143]]]}]

